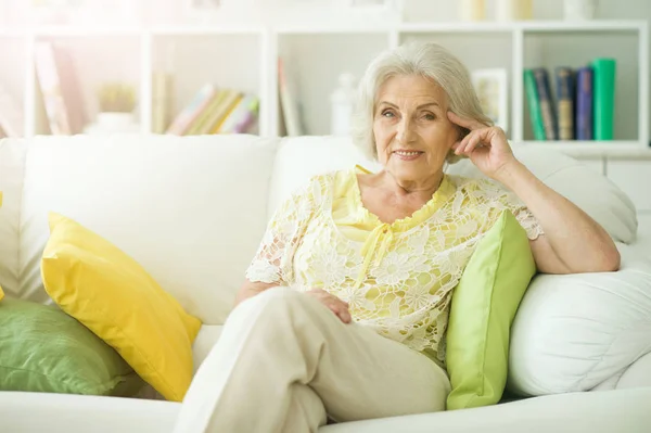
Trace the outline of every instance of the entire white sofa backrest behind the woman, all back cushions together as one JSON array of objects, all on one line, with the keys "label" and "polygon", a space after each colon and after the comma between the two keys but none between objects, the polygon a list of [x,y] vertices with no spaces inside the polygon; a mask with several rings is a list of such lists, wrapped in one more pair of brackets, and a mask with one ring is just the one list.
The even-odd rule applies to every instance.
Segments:
[{"label": "entire white sofa backrest behind the woman, all back cushions together", "polygon": [[[618,241],[635,208],[603,176],[552,151],[515,149],[542,181]],[[37,137],[0,141],[0,284],[48,302],[40,256],[48,213],[71,217],[139,262],[186,309],[222,323],[270,215],[316,174],[361,164],[347,138]],[[448,173],[481,176],[468,161]]]}]

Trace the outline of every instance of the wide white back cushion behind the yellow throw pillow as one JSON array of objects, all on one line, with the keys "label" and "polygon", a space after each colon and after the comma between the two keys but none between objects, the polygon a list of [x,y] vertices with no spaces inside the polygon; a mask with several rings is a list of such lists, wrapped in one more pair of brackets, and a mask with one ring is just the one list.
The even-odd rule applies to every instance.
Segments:
[{"label": "wide white back cushion behind the yellow throw pillow", "polygon": [[222,323],[265,230],[277,143],[253,136],[34,139],[22,296],[47,298],[40,256],[54,211],[132,256],[204,323]]}]

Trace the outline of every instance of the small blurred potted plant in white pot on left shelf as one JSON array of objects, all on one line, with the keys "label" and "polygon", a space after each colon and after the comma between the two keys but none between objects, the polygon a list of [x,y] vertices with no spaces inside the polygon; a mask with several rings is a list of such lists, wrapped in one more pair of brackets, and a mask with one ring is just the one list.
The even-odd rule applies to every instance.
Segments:
[{"label": "small blurred potted plant in white pot on left shelf", "polygon": [[119,133],[136,132],[135,122],[136,89],[124,82],[107,82],[98,92],[100,112],[95,125],[87,128],[87,132]]}]

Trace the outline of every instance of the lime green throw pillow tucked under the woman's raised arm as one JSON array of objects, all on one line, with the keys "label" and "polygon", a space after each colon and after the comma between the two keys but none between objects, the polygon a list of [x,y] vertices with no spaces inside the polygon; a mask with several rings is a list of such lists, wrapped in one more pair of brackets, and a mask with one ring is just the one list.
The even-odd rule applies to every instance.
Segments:
[{"label": "lime green throw pillow tucked under the woman's raised arm", "polygon": [[452,293],[448,410],[493,405],[501,398],[511,323],[535,273],[526,232],[507,211],[480,241]]}]

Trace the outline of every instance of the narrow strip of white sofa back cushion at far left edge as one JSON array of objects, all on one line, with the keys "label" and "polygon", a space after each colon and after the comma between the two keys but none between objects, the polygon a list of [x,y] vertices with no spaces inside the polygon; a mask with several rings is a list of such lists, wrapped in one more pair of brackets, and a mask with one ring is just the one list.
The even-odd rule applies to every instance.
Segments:
[{"label": "narrow strip of white sofa back cushion at far left edge", "polygon": [[18,293],[18,233],[27,141],[0,140],[0,285]]}]

